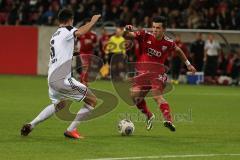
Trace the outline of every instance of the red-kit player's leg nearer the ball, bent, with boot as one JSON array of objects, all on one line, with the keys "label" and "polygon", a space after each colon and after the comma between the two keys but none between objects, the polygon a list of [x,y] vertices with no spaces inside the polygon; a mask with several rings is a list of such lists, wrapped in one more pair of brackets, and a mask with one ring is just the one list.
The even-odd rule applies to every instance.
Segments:
[{"label": "red-kit player's leg nearer the ball, bent, with boot", "polygon": [[143,90],[139,89],[138,87],[133,87],[131,89],[131,97],[137,108],[146,116],[146,129],[151,130],[152,121],[154,120],[155,116],[147,107],[147,103],[144,99],[148,92],[149,89]]}]

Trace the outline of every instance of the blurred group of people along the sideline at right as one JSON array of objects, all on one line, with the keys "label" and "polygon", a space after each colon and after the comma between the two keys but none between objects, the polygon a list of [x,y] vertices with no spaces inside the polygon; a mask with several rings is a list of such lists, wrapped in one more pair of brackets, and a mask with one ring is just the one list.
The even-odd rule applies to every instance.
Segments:
[{"label": "blurred group of people along the sideline at right", "polygon": [[[203,39],[202,33],[196,33],[196,39],[185,44],[180,35],[176,35],[175,42],[196,67],[198,72],[204,73],[205,84],[236,84],[240,76],[240,47],[223,52],[224,45],[220,44],[215,34],[207,34]],[[174,83],[181,81],[180,75],[186,74],[186,67],[174,53],[169,59],[171,75]]]}]

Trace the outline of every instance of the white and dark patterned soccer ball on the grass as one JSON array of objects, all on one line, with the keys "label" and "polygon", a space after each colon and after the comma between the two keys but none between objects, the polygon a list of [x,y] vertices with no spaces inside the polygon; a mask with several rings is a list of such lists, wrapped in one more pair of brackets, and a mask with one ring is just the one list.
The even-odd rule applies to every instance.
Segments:
[{"label": "white and dark patterned soccer ball on the grass", "polygon": [[134,124],[127,119],[123,119],[118,123],[118,131],[122,136],[129,136],[134,132]]}]

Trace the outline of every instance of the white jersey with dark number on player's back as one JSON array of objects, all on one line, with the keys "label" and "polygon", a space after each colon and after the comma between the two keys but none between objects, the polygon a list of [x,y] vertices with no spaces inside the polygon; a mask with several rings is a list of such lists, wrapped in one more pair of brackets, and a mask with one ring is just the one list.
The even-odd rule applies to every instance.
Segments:
[{"label": "white jersey with dark number on player's back", "polygon": [[70,78],[74,50],[74,32],[72,26],[60,27],[50,40],[50,61],[48,82]]}]

